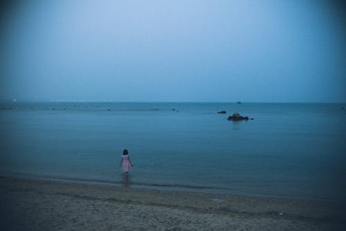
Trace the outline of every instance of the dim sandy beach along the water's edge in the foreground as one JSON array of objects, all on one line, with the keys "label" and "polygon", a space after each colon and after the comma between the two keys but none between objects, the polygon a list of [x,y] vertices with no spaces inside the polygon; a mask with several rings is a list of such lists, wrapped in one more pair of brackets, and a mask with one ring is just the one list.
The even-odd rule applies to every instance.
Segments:
[{"label": "dim sandy beach along the water's edge in the foreground", "polygon": [[345,230],[314,200],[0,178],[1,230]]}]

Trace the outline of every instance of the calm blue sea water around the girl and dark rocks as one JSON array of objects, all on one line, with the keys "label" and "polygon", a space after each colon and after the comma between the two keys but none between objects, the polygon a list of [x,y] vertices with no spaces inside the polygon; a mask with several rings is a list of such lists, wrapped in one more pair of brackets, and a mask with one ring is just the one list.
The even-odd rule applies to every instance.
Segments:
[{"label": "calm blue sea water around the girl and dark rocks", "polygon": [[[1,103],[0,175],[343,200],[346,105]],[[226,110],[226,114],[217,112]],[[233,112],[254,118],[228,121]]]}]

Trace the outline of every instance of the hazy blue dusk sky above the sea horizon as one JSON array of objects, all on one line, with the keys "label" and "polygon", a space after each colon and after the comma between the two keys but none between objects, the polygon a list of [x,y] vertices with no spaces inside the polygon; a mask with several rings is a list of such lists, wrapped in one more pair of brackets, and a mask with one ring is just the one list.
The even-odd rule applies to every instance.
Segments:
[{"label": "hazy blue dusk sky above the sea horizon", "polygon": [[14,2],[0,99],[346,102],[338,1]]}]

